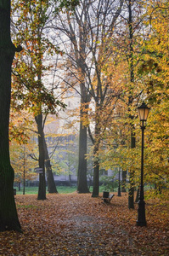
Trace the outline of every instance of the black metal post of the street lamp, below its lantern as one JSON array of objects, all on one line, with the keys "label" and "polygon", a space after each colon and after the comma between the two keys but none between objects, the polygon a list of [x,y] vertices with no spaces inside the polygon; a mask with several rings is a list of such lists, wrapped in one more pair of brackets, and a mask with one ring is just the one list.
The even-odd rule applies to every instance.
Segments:
[{"label": "black metal post of the street lamp, below its lantern", "polygon": [[140,184],[140,194],[138,200],[138,226],[146,226],[145,220],[145,202],[144,202],[144,124],[141,125],[142,129],[142,155],[141,155],[141,184]]}]

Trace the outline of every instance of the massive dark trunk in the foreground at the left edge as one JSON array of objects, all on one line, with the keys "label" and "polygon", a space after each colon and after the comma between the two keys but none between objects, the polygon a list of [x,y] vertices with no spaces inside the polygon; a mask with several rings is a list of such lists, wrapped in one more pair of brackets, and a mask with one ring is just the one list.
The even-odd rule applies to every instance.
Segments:
[{"label": "massive dark trunk in the foreground at the left edge", "polygon": [[14,170],[10,165],[8,145],[11,66],[15,50],[10,38],[10,0],[0,0],[0,231],[21,232],[14,202]]}]

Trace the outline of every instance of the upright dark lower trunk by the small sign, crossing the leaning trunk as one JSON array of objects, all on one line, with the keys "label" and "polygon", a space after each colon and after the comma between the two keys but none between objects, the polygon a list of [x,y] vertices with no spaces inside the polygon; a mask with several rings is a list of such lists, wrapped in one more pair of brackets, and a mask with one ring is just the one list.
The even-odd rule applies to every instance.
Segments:
[{"label": "upright dark lower trunk by the small sign, crossing the leaning trunk", "polygon": [[37,123],[37,132],[38,132],[38,148],[39,148],[39,167],[42,168],[42,173],[39,174],[39,189],[38,189],[38,200],[46,199],[46,180],[45,180],[45,154],[43,146],[43,129],[42,129],[42,113],[38,114],[35,117]]}]

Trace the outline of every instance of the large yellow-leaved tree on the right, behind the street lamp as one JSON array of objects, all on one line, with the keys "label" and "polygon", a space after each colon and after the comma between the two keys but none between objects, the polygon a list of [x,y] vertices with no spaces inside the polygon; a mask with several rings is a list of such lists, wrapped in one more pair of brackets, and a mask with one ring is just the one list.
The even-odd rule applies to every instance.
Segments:
[{"label": "large yellow-leaved tree on the right, behind the street lamp", "polygon": [[[123,65],[119,69],[128,75],[126,83],[123,84],[124,94],[121,96],[121,106],[118,104],[118,108],[121,110],[124,108],[125,112],[123,111],[123,114],[115,119],[118,129],[121,131],[119,136],[118,132],[116,137],[110,133],[110,137],[115,137],[118,147],[113,149],[111,146],[107,150],[108,154],[104,155],[104,159],[107,161],[107,166],[110,166],[112,160],[118,161],[123,170],[134,174],[132,183],[139,185],[140,167],[138,163],[140,163],[141,138],[136,117],[138,102],[146,101],[151,106],[151,111],[145,131],[144,176],[146,183],[156,183],[156,187],[161,188],[161,184],[163,187],[167,186],[168,180],[166,175],[168,170],[168,137],[166,136],[168,133],[168,108],[166,107],[168,105],[168,33],[166,29],[168,26],[168,3],[166,1],[161,4],[158,1],[149,3],[151,3],[148,4],[149,8],[147,8],[147,3],[145,3],[146,8],[144,5],[142,6],[146,12],[137,13],[141,15],[139,19],[138,15],[135,17],[135,12],[132,12],[132,27],[130,28],[131,32],[134,29],[132,37],[130,35],[132,45],[128,44],[127,37],[123,37],[126,40],[126,42],[124,40],[125,44],[121,44],[121,37],[118,38],[121,49],[126,49],[126,52],[125,50],[121,52],[119,57],[119,59],[123,58],[124,64],[126,63],[126,67]],[[143,32],[140,32],[141,29]],[[115,45],[117,47],[118,44]],[[124,45],[125,48],[122,48]],[[134,84],[131,79],[132,74],[134,74]],[[113,128],[116,129],[115,122],[113,124]],[[129,140],[131,126],[134,127],[135,133],[133,140]],[[120,139],[124,143],[120,143]],[[137,142],[137,147],[131,147],[132,141]],[[110,139],[110,143],[113,145],[112,139]],[[133,145],[136,146],[136,143]],[[133,185],[129,192],[132,192],[132,196],[129,195],[128,198],[128,206],[131,208],[133,206]]]}]

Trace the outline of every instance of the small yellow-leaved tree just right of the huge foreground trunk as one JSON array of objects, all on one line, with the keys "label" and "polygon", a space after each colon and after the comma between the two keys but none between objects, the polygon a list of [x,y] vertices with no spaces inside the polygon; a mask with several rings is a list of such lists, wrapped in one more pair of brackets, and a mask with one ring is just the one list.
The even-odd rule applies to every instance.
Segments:
[{"label": "small yellow-leaved tree just right of the huge foreground trunk", "polygon": [[[14,182],[23,183],[23,194],[25,194],[25,180],[35,177],[34,161],[27,156],[35,150],[32,140],[34,129],[32,115],[27,112],[12,112],[10,109],[9,122],[9,146],[11,165],[14,168]],[[31,137],[31,138],[30,138]]]}]

